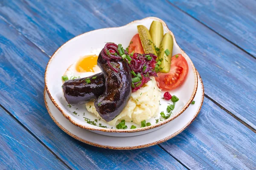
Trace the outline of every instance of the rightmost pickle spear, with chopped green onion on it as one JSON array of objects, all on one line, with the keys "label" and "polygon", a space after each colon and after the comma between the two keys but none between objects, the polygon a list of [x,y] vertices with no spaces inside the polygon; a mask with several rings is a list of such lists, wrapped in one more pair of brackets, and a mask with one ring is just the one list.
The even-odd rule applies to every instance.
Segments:
[{"label": "rightmost pickle spear, with chopped green onion on it", "polygon": [[[160,43],[160,53],[158,59],[162,60],[160,72],[169,73],[171,68],[171,59],[172,59],[172,48],[173,48],[173,39],[170,33],[166,33],[163,36],[163,40]],[[166,55],[168,54],[168,55]]]}]

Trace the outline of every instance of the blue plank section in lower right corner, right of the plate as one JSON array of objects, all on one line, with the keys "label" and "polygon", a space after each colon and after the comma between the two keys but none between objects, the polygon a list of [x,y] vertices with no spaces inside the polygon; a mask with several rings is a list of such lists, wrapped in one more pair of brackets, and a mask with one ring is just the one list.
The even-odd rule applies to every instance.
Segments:
[{"label": "blue plank section in lower right corner, right of the plate", "polygon": [[195,121],[160,145],[189,169],[253,170],[255,144],[256,133],[205,98]]}]

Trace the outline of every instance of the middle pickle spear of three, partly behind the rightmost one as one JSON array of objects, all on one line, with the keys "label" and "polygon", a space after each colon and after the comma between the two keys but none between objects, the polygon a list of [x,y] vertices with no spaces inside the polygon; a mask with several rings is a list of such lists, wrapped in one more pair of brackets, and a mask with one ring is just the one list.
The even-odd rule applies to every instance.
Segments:
[{"label": "middle pickle spear of three, partly behind the rightmost one", "polygon": [[156,49],[159,49],[161,40],[163,39],[163,24],[159,21],[153,21],[149,32]]}]

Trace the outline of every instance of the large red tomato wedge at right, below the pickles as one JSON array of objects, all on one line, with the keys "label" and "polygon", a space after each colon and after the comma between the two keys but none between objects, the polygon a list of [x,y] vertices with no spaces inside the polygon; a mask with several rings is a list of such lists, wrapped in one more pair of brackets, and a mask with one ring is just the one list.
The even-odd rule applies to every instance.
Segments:
[{"label": "large red tomato wedge at right, below the pickles", "polygon": [[186,59],[181,54],[176,54],[172,56],[169,73],[157,74],[157,85],[160,89],[173,90],[183,84],[188,72],[189,65]]}]

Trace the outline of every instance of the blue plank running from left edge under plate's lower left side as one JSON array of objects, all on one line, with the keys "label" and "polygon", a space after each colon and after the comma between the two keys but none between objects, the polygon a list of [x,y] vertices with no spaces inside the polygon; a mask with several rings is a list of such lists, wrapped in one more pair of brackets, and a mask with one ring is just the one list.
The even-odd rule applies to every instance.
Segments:
[{"label": "blue plank running from left edge under plate's lower left side", "polygon": [[106,150],[64,133],[44,105],[44,69],[49,57],[3,20],[0,28],[1,105],[71,168],[186,169],[158,145],[140,150]]}]

